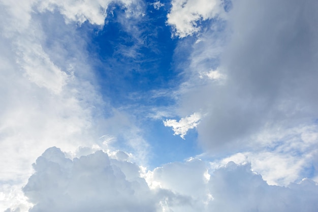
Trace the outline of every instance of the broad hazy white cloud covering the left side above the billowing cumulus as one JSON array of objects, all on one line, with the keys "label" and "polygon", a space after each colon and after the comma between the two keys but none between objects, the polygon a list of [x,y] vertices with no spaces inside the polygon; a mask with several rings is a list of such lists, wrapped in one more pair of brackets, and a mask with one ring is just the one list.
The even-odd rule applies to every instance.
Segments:
[{"label": "broad hazy white cloud covering the left side above the billowing cumulus", "polygon": [[[99,137],[120,133],[139,142],[128,144],[134,145],[132,152],[145,151],[134,123],[122,122],[125,114],[118,115],[102,100],[94,60],[78,31],[84,21],[103,26],[110,3],[0,1],[0,211],[24,201],[16,188],[25,184],[33,173],[31,163],[50,146],[60,146],[72,158],[110,148]],[[139,2],[117,3],[127,16],[142,13]],[[118,119],[110,119],[112,115]],[[109,122],[124,133],[101,127]]]}]

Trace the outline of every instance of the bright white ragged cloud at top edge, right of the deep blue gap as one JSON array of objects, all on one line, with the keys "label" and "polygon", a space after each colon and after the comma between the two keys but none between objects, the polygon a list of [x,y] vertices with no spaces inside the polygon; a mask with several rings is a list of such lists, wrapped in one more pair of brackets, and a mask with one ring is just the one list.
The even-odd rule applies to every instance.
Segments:
[{"label": "bright white ragged cloud at top edge, right of the deep blue gap", "polygon": [[179,38],[200,32],[198,22],[215,18],[223,11],[219,0],[173,0],[167,23]]}]

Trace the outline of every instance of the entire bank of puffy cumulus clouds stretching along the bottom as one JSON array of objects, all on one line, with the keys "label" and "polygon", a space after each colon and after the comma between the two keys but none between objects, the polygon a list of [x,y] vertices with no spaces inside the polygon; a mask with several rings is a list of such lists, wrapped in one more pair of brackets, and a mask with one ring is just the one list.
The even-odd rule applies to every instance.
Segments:
[{"label": "entire bank of puffy cumulus clouds stretching along the bottom", "polygon": [[98,151],[70,160],[59,148],[47,149],[23,188],[34,204],[29,211],[315,211],[318,206],[318,186],[310,179],[269,186],[249,163],[214,169],[198,159],[145,172],[124,155]]}]

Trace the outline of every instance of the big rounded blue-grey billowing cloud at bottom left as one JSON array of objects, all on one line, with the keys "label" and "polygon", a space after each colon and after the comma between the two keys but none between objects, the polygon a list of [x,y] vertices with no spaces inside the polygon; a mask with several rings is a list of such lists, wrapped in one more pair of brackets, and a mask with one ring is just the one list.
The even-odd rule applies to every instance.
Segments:
[{"label": "big rounded blue-grey billowing cloud at bottom left", "polygon": [[56,147],[34,164],[23,188],[35,204],[29,211],[155,211],[155,202],[139,177],[139,167],[98,151],[73,161]]}]

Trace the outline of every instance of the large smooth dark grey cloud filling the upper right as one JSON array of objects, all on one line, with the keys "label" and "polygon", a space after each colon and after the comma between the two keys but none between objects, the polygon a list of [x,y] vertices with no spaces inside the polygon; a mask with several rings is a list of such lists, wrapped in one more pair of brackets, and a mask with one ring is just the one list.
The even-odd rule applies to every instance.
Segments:
[{"label": "large smooth dark grey cloud filling the upper right", "polygon": [[[208,113],[197,130],[209,151],[237,152],[254,145],[252,137],[263,129],[313,124],[317,8],[316,1],[235,1],[226,28],[212,25],[194,44],[187,83],[198,86],[184,94],[181,110]],[[216,64],[226,80],[202,83],[198,72]]]}]

